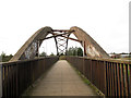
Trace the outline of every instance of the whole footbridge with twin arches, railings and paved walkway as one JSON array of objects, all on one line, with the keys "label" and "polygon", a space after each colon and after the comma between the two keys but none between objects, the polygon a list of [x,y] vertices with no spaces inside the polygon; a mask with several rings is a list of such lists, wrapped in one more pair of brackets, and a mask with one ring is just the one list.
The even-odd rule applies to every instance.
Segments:
[{"label": "whole footbridge with twin arches, railings and paved walkway", "polygon": [[[47,37],[48,34],[52,36]],[[39,47],[49,38],[55,39],[57,56],[41,58]],[[83,57],[66,53],[64,60],[59,60],[60,53],[68,49],[69,39],[82,45]],[[70,29],[43,27],[9,62],[0,63],[0,97],[98,96],[78,72],[104,96],[131,96],[131,62],[109,58],[87,33],[74,26]]]}]

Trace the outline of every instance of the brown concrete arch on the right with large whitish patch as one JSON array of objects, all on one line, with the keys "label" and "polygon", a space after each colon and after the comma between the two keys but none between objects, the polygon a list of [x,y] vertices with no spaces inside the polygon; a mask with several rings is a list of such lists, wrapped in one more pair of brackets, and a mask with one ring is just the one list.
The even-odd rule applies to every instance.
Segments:
[{"label": "brown concrete arch on the right with large whitish patch", "polygon": [[[109,58],[108,53],[83,29],[80,27],[71,27],[73,34],[79,40],[82,40],[82,46],[85,48],[85,56],[95,58]],[[83,44],[85,42],[85,44]]]}]

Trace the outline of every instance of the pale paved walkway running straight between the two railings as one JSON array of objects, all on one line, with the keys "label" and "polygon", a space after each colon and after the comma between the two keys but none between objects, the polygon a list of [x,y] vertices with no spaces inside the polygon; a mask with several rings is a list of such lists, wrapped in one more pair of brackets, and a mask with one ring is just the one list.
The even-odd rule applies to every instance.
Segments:
[{"label": "pale paved walkway running straight between the two railings", "polygon": [[28,96],[97,96],[66,61],[60,60],[34,84]]}]

